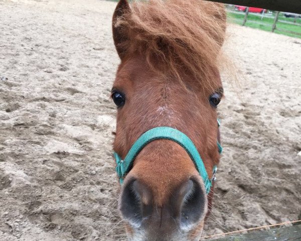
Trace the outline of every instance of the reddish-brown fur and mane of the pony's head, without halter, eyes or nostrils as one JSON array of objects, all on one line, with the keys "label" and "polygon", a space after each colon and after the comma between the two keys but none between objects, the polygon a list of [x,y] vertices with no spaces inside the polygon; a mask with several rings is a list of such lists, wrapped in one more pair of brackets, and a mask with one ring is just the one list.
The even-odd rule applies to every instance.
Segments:
[{"label": "reddish-brown fur and mane of the pony's head, without halter, eyes or nostrils", "polygon": [[[218,127],[208,98],[222,87],[217,58],[224,35],[225,12],[219,4],[153,0],[134,2],[130,9],[120,0],[113,38],[121,64],[113,88],[126,96],[117,112],[114,141],[121,158],[142,133],[169,126],[192,139],[211,178],[219,162]],[[186,151],[174,142],[157,140],[136,157],[124,182],[139,179],[153,195],[142,199],[162,210],[173,190],[192,176],[202,182]],[[211,199],[212,192],[204,202],[211,206]],[[190,240],[203,223],[204,218],[190,231]],[[127,231],[135,234],[131,226]]]}]

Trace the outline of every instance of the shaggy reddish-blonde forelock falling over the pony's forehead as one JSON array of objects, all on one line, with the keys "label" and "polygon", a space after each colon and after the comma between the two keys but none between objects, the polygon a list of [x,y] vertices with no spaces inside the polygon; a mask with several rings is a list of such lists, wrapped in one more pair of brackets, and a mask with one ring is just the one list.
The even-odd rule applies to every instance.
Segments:
[{"label": "shaggy reddish-blonde forelock falling over the pony's forehead", "polygon": [[[225,38],[223,5],[201,0],[132,1],[115,22],[125,56],[141,54],[149,66],[176,76],[194,76],[205,88],[216,78]],[[215,77],[214,77],[215,76]]]}]

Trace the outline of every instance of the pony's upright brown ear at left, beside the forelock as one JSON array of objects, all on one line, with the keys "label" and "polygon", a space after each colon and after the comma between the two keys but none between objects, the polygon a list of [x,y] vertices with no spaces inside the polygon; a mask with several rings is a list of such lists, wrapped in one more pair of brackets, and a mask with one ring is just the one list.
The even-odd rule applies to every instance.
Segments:
[{"label": "pony's upright brown ear at left, beside the forelock", "polygon": [[112,29],[113,29],[113,40],[117,53],[122,59],[126,52],[125,42],[127,40],[127,32],[124,26],[117,26],[117,20],[121,18],[126,12],[130,11],[127,0],[119,0],[116,9],[113,14]]}]

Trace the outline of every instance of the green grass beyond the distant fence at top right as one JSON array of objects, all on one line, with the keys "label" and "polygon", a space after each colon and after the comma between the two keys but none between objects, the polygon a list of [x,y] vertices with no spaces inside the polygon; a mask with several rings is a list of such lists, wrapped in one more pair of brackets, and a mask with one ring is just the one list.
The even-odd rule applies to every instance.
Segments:
[{"label": "green grass beyond the distant fence at top right", "polygon": [[[239,25],[242,24],[243,19],[244,19],[244,15],[238,14],[238,13],[237,14],[236,13],[228,13],[228,17],[229,17],[228,20],[231,23],[235,23],[235,24],[239,24]],[[274,14],[272,15],[272,17],[274,17]],[[248,20],[256,21],[258,23],[251,23],[251,22],[248,22]],[[280,14],[278,20],[293,23],[294,18],[285,18],[282,14]],[[248,15],[248,19],[247,19],[245,26],[271,32],[273,22],[274,22],[274,19],[270,19],[270,18],[266,18],[266,17],[263,17],[263,19],[261,20],[261,15],[258,15],[258,16]],[[296,23],[301,24],[301,18],[297,18]],[[266,26],[265,24],[269,24],[269,26]],[[275,33],[277,33],[277,34],[283,34],[283,35],[287,35],[287,36],[291,36],[291,37],[295,37],[295,38],[301,38],[301,35],[281,32],[281,31],[277,30],[277,28],[285,29],[287,31],[293,31],[293,32],[301,34],[301,26],[277,22],[276,30],[275,30]]]}]

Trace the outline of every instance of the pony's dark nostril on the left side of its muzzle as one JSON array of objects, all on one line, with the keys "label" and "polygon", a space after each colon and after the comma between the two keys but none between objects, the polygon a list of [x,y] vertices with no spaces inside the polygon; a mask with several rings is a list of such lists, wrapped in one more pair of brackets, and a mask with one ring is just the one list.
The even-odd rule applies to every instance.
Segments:
[{"label": "pony's dark nostril on the left side of its muzzle", "polygon": [[146,185],[131,179],[122,189],[119,209],[124,217],[134,226],[140,226],[143,217],[149,215],[152,194]]}]

